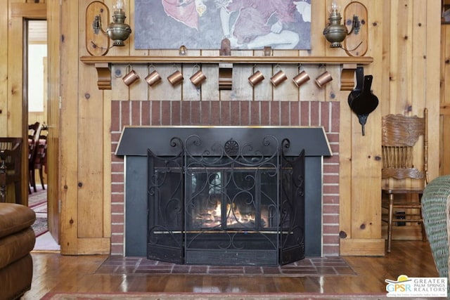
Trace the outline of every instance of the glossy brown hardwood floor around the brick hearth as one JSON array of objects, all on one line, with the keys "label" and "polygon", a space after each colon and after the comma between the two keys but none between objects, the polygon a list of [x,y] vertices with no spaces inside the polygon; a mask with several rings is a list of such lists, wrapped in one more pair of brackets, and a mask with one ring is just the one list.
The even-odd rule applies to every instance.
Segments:
[{"label": "glossy brown hardwood floor around the brick hearth", "polygon": [[344,256],[357,275],[271,277],[252,275],[148,275],[96,272],[108,256],[32,253],[32,289],[23,299],[47,292],[321,292],[385,293],[385,279],[439,277],[428,242],[392,241],[386,256]]}]

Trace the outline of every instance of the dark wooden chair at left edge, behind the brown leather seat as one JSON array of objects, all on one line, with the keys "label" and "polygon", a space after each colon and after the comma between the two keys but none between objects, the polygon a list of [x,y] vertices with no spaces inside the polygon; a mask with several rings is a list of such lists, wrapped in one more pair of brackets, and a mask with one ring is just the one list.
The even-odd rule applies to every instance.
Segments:
[{"label": "dark wooden chair at left edge, behind the brown leather seat", "polygon": [[22,138],[0,138],[0,202],[7,202],[6,190],[14,185],[15,203],[22,203]]}]

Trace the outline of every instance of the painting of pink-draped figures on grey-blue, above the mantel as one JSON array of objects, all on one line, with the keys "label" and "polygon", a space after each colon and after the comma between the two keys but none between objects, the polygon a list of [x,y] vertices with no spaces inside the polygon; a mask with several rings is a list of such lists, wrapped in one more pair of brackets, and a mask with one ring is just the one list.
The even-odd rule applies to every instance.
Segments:
[{"label": "painting of pink-draped figures on grey-blue, above the mantel", "polygon": [[135,0],[136,49],[309,49],[311,0]]}]

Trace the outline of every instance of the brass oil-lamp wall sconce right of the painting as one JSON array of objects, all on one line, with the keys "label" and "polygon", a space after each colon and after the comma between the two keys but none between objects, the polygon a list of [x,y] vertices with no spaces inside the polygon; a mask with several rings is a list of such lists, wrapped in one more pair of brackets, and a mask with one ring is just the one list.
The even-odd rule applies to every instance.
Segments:
[{"label": "brass oil-lamp wall sconce right of the painting", "polygon": [[359,22],[359,17],[357,15],[353,15],[352,21],[352,29],[350,31],[347,30],[345,25],[341,24],[341,16],[340,16],[340,6],[333,0],[331,5],[328,6],[328,12],[330,13],[330,17],[328,20],[328,24],[323,29],[323,35],[326,40],[329,41],[331,48],[342,48],[342,41],[345,40],[347,35],[349,34],[359,34],[359,29],[361,27],[361,22]]}]

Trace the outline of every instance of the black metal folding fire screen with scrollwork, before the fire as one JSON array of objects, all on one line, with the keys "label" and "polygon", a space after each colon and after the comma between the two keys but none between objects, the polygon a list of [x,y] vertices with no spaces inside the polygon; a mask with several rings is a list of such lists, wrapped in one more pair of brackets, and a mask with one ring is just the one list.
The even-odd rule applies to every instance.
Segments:
[{"label": "black metal folding fire screen with scrollwork, before the fire", "polygon": [[[193,134],[148,149],[149,259],[205,265],[279,265],[304,258],[304,151],[287,138]],[[292,151],[291,151],[292,152]]]}]

